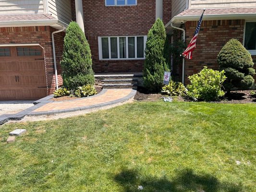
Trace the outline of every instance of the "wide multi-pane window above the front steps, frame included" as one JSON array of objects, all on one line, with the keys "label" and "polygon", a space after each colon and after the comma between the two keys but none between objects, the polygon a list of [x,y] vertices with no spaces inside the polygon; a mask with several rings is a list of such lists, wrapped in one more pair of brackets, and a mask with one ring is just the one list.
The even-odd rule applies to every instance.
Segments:
[{"label": "wide multi-pane window above the front steps, frame included", "polygon": [[145,59],[146,36],[98,37],[99,60]]}]

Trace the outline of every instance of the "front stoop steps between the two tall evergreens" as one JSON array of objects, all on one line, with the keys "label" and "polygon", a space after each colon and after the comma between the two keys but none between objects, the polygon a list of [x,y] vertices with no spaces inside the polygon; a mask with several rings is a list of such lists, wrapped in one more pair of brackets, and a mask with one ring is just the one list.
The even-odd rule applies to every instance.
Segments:
[{"label": "front stoop steps between the two tall evergreens", "polygon": [[142,73],[98,73],[95,74],[96,83],[107,89],[133,88],[141,86]]}]

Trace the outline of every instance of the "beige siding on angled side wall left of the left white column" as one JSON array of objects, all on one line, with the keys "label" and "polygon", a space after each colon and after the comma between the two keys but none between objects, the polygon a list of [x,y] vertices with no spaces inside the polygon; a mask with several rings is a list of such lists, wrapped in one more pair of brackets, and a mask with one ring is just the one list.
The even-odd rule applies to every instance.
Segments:
[{"label": "beige siding on angled side wall left of the left white column", "polygon": [[48,0],[49,12],[65,24],[72,20],[70,0]]}]

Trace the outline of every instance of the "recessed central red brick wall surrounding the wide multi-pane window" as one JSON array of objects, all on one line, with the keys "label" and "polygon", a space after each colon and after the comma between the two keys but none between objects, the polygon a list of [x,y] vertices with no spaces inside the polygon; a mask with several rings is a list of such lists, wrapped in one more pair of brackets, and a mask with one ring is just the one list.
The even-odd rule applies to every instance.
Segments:
[{"label": "recessed central red brick wall surrounding the wide multi-pane window", "polygon": [[[74,0],[72,0],[75,20]],[[156,1],[138,0],[136,6],[105,6],[105,0],[83,0],[85,36],[94,72],[141,72],[144,60],[98,59],[98,36],[147,35],[156,20]]]}]

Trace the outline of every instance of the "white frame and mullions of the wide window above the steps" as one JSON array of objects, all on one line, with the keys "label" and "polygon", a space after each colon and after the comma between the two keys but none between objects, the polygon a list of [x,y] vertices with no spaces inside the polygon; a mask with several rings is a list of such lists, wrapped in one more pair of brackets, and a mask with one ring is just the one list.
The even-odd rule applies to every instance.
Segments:
[{"label": "white frame and mullions of the wide window above the steps", "polygon": [[[103,59],[102,58],[102,43],[101,43],[101,38],[109,38],[109,59]],[[110,37],[117,37],[117,55],[118,58],[111,59],[111,48],[110,48]],[[119,38],[120,37],[126,37],[126,58],[120,58],[120,47],[119,47]],[[134,45],[135,45],[135,58],[128,58],[129,56],[129,50],[128,50],[128,37],[134,37]],[[99,60],[145,60],[145,48],[146,48],[146,39],[147,36],[144,37],[144,57],[143,58],[137,58],[137,37],[142,37],[142,36],[98,36],[98,57]]]}]

